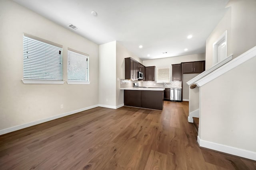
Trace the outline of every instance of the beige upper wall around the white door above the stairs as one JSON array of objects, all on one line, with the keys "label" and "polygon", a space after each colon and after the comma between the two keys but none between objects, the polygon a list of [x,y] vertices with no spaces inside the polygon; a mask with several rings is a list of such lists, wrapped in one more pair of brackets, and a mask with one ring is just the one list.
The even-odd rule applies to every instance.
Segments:
[{"label": "beige upper wall around the white door above the stairs", "polygon": [[227,12],[206,40],[206,69],[212,66],[212,45],[228,31],[227,56],[233,59],[256,45],[256,0],[230,0]]}]

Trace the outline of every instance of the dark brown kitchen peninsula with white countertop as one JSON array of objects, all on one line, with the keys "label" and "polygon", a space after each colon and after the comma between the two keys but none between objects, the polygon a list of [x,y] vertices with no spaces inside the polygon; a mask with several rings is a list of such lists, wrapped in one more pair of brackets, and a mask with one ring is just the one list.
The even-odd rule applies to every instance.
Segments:
[{"label": "dark brown kitchen peninsula with white countertop", "polygon": [[124,106],[162,110],[165,88],[121,88],[124,90]]}]

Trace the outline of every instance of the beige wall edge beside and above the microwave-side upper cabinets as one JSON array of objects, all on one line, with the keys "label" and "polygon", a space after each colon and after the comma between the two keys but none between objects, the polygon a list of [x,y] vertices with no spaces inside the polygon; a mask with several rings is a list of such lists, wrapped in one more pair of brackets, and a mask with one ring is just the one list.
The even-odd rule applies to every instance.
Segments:
[{"label": "beige wall edge beside and above the microwave-side upper cabinets", "polygon": [[124,104],[124,90],[120,90],[120,79],[125,78],[124,59],[132,57],[142,63],[142,60],[128,51],[120,42],[116,42],[116,106]]}]

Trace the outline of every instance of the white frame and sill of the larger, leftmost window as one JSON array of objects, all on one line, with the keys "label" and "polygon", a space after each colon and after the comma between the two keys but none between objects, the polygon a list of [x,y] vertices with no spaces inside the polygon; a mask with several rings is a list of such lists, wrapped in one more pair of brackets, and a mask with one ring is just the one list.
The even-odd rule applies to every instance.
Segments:
[{"label": "white frame and sill of the larger, leftmost window", "polygon": [[23,79],[22,79],[22,82],[24,84],[64,84],[64,80],[63,80],[63,47],[62,45],[59,45],[57,43],[53,43],[51,41],[48,41],[48,40],[45,40],[45,39],[42,39],[42,38],[39,38],[39,37],[36,37],[34,35],[30,35],[30,34],[27,34],[27,33],[23,33],[23,41],[24,41],[24,37],[28,37],[30,39],[34,39],[36,41],[40,41],[42,43],[46,43],[46,44],[49,44],[49,45],[53,45],[55,47],[58,47],[58,48],[61,48],[61,58],[62,58],[62,65],[61,65],[61,69],[62,69],[62,73],[61,73],[61,76],[62,76],[62,80],[51,80],[51,79],[28,79],[28,78],[24,78],[24,43],[23,43]]}]

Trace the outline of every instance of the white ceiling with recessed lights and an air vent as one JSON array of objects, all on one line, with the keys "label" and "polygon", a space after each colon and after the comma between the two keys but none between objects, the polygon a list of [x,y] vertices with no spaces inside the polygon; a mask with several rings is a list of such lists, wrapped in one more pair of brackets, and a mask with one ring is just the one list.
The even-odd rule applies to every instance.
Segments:
[{"label": "white ceiling with recessed lights and an air vent", "polygon": [[[140,59],[147,60],[205,53],[206,39],[224,16],[228,0],[14,2],[99,45],[116,40]],[[98,15],[93,16],[92,11]],[[70,23],[79,29],[71,29],[67,26]],[[188,35],[192,38],[187,39]],[[140,49],[139,45],[143,47]]]}]

